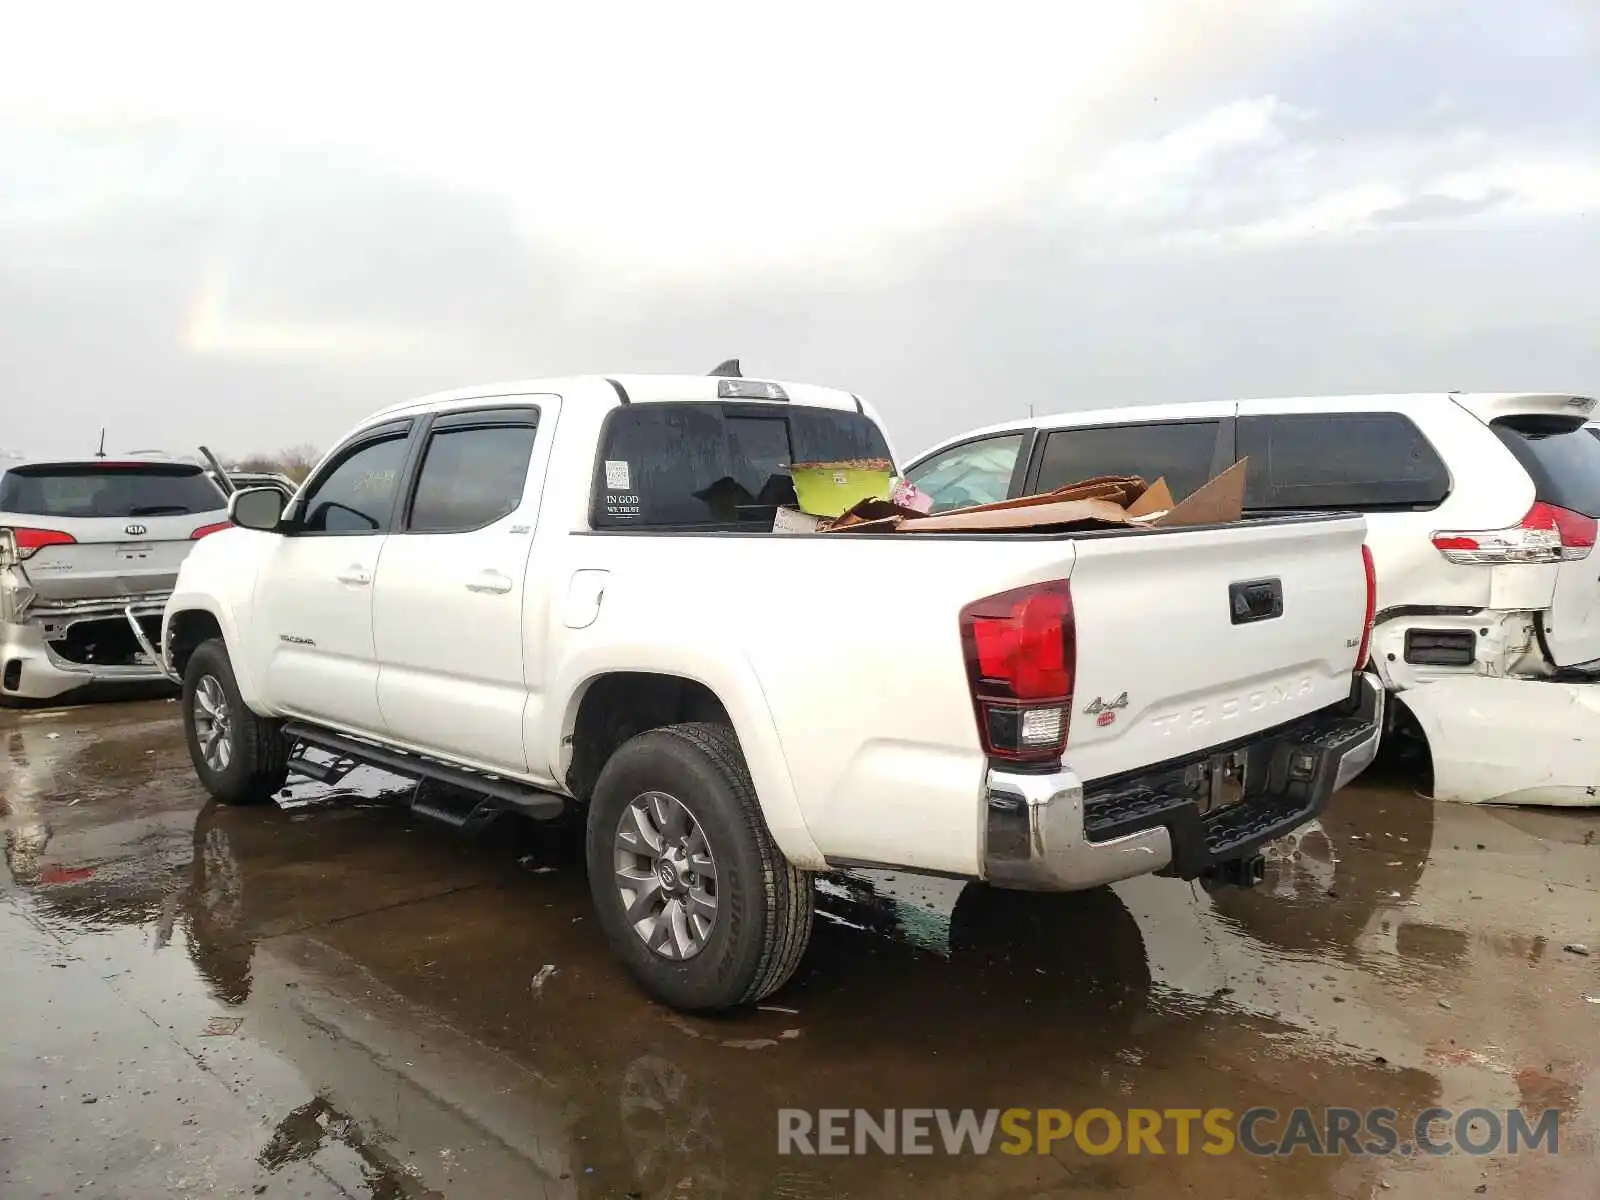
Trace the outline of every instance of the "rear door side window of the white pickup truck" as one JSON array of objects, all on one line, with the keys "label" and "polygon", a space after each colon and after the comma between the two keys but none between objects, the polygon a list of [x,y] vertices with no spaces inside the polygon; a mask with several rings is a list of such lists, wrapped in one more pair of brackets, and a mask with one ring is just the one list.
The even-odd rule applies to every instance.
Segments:
[{"label": "rear door side window of the white pickup truck", "polygon": [[533,426],[438,429],[427,438],[408,533],[467,533],[522,504]]}]

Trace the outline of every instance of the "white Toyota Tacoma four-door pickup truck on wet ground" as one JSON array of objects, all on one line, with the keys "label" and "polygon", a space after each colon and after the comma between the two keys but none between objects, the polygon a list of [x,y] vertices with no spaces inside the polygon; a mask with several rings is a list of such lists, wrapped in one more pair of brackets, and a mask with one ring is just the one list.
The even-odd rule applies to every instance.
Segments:
[{"label": "white Toyota Tacoma four-door pickup truck on wet ground", "polygon": [[195,771],[581,816],[614,950],[718,1010],[792,974],[813,872],[1250,883],[1373,758],[1360,517],[773,533],[790,462],[854,458],[891,458],[856,397],[739,378],[378,413],[184,562],[158,653]]}]

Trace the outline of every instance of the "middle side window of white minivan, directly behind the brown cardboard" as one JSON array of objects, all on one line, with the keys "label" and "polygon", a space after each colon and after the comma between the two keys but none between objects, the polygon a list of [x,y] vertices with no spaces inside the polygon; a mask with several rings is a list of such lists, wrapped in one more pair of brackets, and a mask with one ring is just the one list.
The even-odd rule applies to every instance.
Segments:
[{"label": "middle side window of white minivan, directly behind the brown cardboard", "polygon": [[1034,490],[1054,491],[1094,475],[1138,475],[1146,483],[1165,477],[1182,499],[1211,478],[1216,427],[1216,421],[1176,421],[1058,429],[1045,438]]}]

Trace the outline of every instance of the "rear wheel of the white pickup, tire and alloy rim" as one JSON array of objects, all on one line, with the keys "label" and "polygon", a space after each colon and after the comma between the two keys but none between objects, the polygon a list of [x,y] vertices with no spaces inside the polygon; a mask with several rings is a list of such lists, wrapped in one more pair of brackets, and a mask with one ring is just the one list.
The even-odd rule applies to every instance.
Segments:
[{"label": "rear wheel of the white pickup, tire and alloy rim", "polygon": [[726,725],[669,725],[624,742],[595,782],[586,843],[600,928],[658,1000],[736,1008],[800,965],[811,875],[773,842]]}]

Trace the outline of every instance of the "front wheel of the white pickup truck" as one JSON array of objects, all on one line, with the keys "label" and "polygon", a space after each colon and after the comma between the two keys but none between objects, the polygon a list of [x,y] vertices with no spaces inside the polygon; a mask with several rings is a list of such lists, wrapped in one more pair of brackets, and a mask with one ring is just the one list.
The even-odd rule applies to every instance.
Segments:
[{"label": "front wheel of the white pickup truck", "polygon": [[222,638],[202,642],[189,656],[182,712],[200,786],[224,805],[270,803],[288,779],[290,739],[278,722],[245,707]]}]

